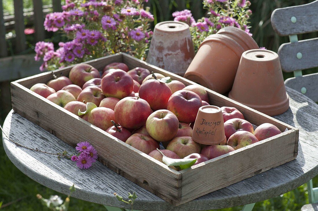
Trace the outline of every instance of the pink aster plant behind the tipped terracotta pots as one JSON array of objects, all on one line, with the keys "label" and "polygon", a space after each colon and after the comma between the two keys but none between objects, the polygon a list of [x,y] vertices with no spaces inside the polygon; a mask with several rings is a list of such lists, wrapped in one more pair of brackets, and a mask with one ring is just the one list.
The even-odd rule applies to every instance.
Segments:
[{"label": "pink aster plant behind the tipped terracotta pots", "polygon": [[226,26],[234,26],[250,33],[249,17],[252,11],[248,9],[251,5],[246,0],[203,0],[203,7],[207,15],[195,21],[190,10],[176,11],[172,13],[175,21],[187,23],[197,51],[206,36],[215,34]]}]

